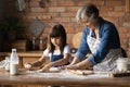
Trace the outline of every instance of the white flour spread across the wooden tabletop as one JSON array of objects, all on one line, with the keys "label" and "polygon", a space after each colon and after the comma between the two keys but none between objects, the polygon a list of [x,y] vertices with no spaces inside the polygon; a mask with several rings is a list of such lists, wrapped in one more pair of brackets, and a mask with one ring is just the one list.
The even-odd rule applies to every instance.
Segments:
[{"label": "white flour spread across the wooden tabletop", "polygon": [[25,72],[27,76],[29,77],[43,77],[43,78],[64,78],[64,79],[87,79],[87,78],[104,78],[108,77],[107,74],[91,74],[91,75],[77,75],[77,74],[72,74],[65,70],[61,71],[60,73],[40,73],[37,71],[26,71]]}]

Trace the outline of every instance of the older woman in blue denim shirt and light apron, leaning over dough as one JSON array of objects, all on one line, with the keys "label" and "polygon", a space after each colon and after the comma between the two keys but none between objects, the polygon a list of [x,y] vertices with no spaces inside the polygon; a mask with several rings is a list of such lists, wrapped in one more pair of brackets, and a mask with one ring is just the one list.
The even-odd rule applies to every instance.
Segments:
[{"label": "older woman in blue denim shirt and light apron, leaning over dough", "polygon": [[[99,14],[92,3],[77,11],[76,20],[84,25],[80,47],[67,69],[84,70],[93,66],[94,71],[114,71],[118,58],[127,57],[120,47],[120,38],[116,26]],[[86,59],[88,52],[92,54]]]}]

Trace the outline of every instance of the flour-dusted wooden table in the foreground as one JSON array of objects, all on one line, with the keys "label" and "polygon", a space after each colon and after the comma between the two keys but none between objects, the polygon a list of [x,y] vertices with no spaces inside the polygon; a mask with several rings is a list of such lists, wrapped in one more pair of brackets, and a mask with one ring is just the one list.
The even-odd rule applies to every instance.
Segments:
[{"label": "flour-dusted wooden table in the foreground", "polygon": [[2,85],[53,85],[70,87],[130,87],[130,77],[108,77],[104,75],[76,75],[62,71],[62,73],[27,73],[11,76],[9,72],[0,70],[0,84]]}]

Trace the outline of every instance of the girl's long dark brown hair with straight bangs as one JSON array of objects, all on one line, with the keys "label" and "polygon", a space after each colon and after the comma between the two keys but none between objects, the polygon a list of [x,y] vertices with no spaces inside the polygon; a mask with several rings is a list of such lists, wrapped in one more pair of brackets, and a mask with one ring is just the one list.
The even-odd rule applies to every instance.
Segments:
[{"label": "girl's long dark brown hair with straight bangs", "polygon": [[50,52],[53,52],[55,49],[54,45],[51,42],[52,37],[61,37],[60,50],[63,51],[64,47],[66,46],[66,32],[65,32],[64,26],[61,24],[56,24],[51,29],[49,34]]}]

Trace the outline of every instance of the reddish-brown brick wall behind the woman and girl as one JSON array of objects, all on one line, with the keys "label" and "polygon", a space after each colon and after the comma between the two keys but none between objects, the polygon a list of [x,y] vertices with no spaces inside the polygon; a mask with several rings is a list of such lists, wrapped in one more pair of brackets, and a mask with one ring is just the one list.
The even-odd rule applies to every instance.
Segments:
[{"label": "reddish-brown brick wall behind the woman and girl", "polygon": [[[9,1],[9,7],[12,5],[12,8],[14,8],[14,5],[11,4],[13,0]],[[8,7],[6,13],[15,13],[21,16],[25,21],[27,29],[30,23],[36,18],[44,22],[46,28],[41,35],[42,37],[48,35],[50,28],[55,23],[63,24],[67,32],[67,42],[72,47],[72,37],[83,28],[83,26],[76,23],[76,12],[81,5],[93,2],[100,9],[101,16],[112,21],[117,26],[122,48],[125,48],[127,52],[130,49],[130,46],[128,46],[130,39],[130,13],[126,12],[126,0],[43,0],[44,8],[39,7],[40,0],[25,1],[26,10],[24,12],[16,12]],[[32,36],[29,32],[27,32],[27,35],[28,37]],[[128,53],[130,57],[130,52]]]}]

